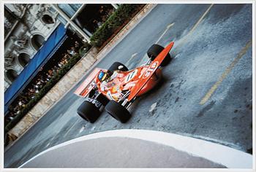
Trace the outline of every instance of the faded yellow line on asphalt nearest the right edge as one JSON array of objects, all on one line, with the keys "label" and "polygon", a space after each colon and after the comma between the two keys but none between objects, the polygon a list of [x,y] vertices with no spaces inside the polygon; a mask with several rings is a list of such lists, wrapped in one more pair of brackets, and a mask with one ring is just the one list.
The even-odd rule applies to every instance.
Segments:
[{"label": "faded yellow line on asphalt nearest the right edge", "polygon": [[245,47],[238,53],[238,56],[233,60],[232,63],[230,63],[230,66],[227,67],[227,69],[223,72],[222,76],[219,77],[219,80],[214,84],[214,86],[211,87],[210,90],[208,90],[208,93],[203,97],[203,99],[200,101],[200,105],[203,105],[208,101],[208,99],[211,97],[211,95],[214,93],[215,90],[219,87],[219,85],[222,83],[222,81],[227,77],[227,74],[230,73],[230,71],[233,69],[233,67],[238,63],[238,60],[240,60],[243,55],[246,53],[246,51],[249,49],[249,47],[252,46],[252,40],[246,43]]}]

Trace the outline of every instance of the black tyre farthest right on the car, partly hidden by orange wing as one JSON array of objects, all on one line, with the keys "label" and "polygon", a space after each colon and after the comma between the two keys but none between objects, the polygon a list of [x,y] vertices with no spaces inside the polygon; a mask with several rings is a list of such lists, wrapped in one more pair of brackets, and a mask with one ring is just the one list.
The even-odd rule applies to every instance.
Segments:
[{"label": "black tyre farthest right on the car, partly hidden by orange wing", "polygon": [[[159,44],[153,44],[147,51],[148,54],[148,58],[151,58],[151,60],[154,60],[155,58],[157,58],[157,55],[159,55],[160,52],[162,52],[162,50],[164,50],[165,48],[162,47]],[[169,62],[170,62],[171,58],[170,58],[170,54],[168,53],[165,57],[165,59],[162,61],[161,66],[166,66]]]}]

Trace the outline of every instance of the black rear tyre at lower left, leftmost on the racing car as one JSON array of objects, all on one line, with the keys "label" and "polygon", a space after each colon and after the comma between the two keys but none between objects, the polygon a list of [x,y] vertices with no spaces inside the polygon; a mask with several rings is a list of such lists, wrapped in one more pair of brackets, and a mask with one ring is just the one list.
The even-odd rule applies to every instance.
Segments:
[{"label": "black rear tyre at lower left, leftmost on the racing car", "polygon": [[80,117],[91,123],[95,122],[100,115],[99,109],[89,101],[83,101],[77,110]]}]

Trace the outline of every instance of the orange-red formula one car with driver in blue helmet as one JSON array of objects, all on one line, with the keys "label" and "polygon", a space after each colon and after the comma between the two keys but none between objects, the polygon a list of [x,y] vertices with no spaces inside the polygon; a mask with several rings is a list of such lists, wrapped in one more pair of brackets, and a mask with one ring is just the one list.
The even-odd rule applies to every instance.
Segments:
[{"label": "orange-red formula one car with driver in blue helmet", "polygon": [[86,98],[78,107],[78,114],[91,123],[95,122],[102,110],[116,120],[125,123],[131,117],[128,109],[140,95],[151,90],[162,78],[160,66],[170,61],[170,50],[153,44],[147,52],[148,61],[136,69],[128,70],[122,63],[115,62],[108,70],[96,68],[75,90],[75,94]]}]

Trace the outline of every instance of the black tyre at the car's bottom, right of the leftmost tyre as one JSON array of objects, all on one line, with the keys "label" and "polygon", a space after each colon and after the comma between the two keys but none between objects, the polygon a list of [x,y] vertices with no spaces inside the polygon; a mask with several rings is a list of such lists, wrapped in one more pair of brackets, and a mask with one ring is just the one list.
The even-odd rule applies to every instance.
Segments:
[{"label": "black tyre at the car's bottom, right of the leftmost tyre", "polygon": [[105,106],[105,110],[108,112],[108,114],[122,123],[127,122],[131,117],[129,111],[116,101],[109,101],[107,106]]}]

